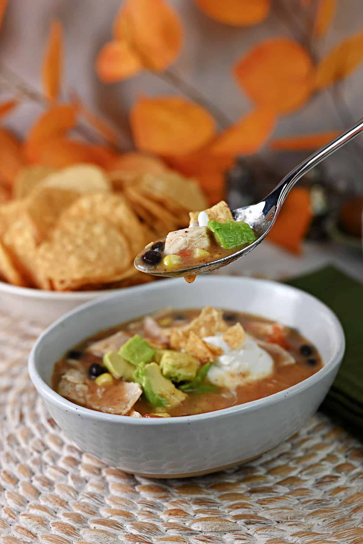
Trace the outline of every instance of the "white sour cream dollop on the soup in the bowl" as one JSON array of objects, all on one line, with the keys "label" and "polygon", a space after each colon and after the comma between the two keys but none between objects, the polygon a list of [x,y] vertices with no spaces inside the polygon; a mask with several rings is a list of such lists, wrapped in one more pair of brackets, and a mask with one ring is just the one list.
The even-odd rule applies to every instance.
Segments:
[{"label": "white sour cream dollop on the soup in the bowl", "polygon": [[203,339],[222,348],[224,352],[216,357],[208,370],[208,379],[214,385],[234,389],[239,385],[266,378],[273,372],[273,358],[249,335],[245,335],[243,344],[236,349],[231,349],[220,334]]}]

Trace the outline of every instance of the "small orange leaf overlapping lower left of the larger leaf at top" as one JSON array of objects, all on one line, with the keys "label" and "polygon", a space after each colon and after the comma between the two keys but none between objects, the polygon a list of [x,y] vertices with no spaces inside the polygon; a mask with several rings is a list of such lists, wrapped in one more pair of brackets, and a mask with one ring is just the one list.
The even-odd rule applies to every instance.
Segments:
[{"label": "small orange leaf overlapping lower left of the larger leaf at top", "polygon": [[126,40],[109,41],[96,59],[96,73],[103,83],[114,83],[134,76],[142,68],[141,59]]}]

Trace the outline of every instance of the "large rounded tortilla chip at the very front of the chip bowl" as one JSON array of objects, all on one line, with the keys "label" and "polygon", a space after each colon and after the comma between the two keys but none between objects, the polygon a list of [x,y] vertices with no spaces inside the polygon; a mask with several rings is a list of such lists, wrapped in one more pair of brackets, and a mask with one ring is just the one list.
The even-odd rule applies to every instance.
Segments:
[{"label": "large rounded tortilla chip at the very front of the chip bowl", "polygon": [[132,255],[121,232],[108,221],[74,218],[57,226],[38,248],[41,274],[56,290],[114,281],[130,268]]}]

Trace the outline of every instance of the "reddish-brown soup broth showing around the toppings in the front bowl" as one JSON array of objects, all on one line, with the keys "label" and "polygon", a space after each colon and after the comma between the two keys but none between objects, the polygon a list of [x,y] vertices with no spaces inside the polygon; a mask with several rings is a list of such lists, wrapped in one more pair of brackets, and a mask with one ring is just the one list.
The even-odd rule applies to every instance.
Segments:
[{"label": "reddish-brown soup broth showing around the toppings in the front bowl", "polygon": [[[161,312],[159,316],[155,316],[156,323],[161,327],[176,327],[190,323],[192,319],[197,317],[200,313],[200,309],[190,310],[167,310]],[[250,332],[255,338],[266,340],[266,334],[262,333],[263,325],[272,325],[276,327],[273,322],[252,316],[243,312],[232,312],[225,310],[223,313],[224,322],[227,325],[234,325],[241,323],[245,331]],[[54,390],[58,390],[61,376],[63,376],[67,370],[71,368],[81,368],[88,373],[90,364],[98,363],[102,365],[102,358],[97,357],[94,354],[87,353],[87,349],[92,343],[97,340],[107,338],[118,331],[125,331],[126,335],[132,337],[135,333],[140,333],[146,340],[155,344],[155,337],[151,337],[150,332],[145,331],[143,325],[143,318],[132,320],[131,322],[122,323],[112,329],[101,331],[99,334],[89,338],[79,344],[76,348],[71,350],[54,366],[52,376],[52,387]],[[269,327],[267,327],[269,329]],[[276,329],[279,330],[279,329]],[[265,331],[266,332],[266,331]],[[207,391],[202,393],[188,392],[185,400],[173,408],[168,408],[167,412],[170,416],[186,416],[193,415],[202,412],[211,412],[220,410],[230,406],[235,406],[243,403],[247,403],[251,400],[267,397],[273,393],[285,390],[300,381],[309,378],[312,374],[315,374],[322,368],[321,357],[317,350],[311,343],[309,343],[300,333],[292,328],[284,327],[284,337],[280,337],[279,333],[274,337],[269,338],[270,343],[284,345],[284,348],[290,353],[294,359],[294,364],[288,364],[283,366],[278,364],[278,358],[271,355],[274,359],[274,368],[272,374],[266,378],[258,379],[245,383],[236,388],[230,389],[227,387],[220,387],[218,391]],[[100,387],[96,385],[95,380],[91,379],[87,374],[87,386],[88,394],[95,401],[100,398]],[[208,380],[207,380],[208,383]],[[114,385],[102,388],[103,393],[107,395],[107,403],[111,407],[116,403],[118,399],[115,398],[116,389]],[[113,394],[114,390],[114,394]],[[74,400],[73,400],[74,401]],[[77,403],[87,406],[85,403]],[[133,409],[145,416],[146,414],[154,413],[156,411],[155,406],[151,406],[142,395]],[[103,410],[104,411],[104,410]]]}]

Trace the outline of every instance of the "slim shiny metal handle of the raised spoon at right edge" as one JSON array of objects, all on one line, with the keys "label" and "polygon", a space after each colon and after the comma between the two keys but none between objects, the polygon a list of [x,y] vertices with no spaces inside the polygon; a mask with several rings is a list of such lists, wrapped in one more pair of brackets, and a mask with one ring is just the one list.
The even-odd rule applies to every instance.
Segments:
[{"label": "slim shiny metal handle of the raised spoon at right edge", "polygon": [[272,206],[275,206],[275,218],[277,214],[280,211],[280,208],[282,204],[284,203],[284,200],[286,199],[286,196],[288,195],[289,191],[292,189],[292,187],[295,185],[295,183],[300,180],[301,177],[303,177],[306,172],[309,172],[314,166],[321,163],[322,160],[326,159],[331,155],[331,153],[334,153],[343,145],[346,145],[348,141],[352,140],[358,134],[360,134],[363,131],[363,119],[358,121],[358,123],[355,123],[352,127],[348,128],[346,131],[344,131],[342,134],[337,136],[334,140],[331,140],[329,144],[324,145],[321,147],[318,151],[315,151],[315,153],[312,153],[310,157],[307,157],[303,162],[298,164],[296,168],[291,170],[284,179],[272,190],[272,192],[266,197],[266,208],[272,208]]}]

